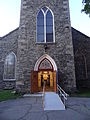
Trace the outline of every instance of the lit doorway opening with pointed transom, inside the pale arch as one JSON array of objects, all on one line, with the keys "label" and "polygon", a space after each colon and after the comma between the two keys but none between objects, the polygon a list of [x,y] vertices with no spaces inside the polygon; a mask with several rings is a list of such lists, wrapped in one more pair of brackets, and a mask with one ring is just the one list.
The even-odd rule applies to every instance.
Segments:
[{"label": "lit doorway opening with pointed transom, inside the pale arch", "polygon": [[38,67],[38,87],[39,91],[54,91],[53,66],[51,62],[45,58],[41,61]]}]

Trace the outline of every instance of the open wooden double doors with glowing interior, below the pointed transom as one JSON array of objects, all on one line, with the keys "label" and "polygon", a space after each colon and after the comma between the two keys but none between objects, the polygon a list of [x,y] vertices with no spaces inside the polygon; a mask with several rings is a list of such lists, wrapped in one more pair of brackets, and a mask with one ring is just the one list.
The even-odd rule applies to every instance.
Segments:
[{"label": "open wooden double doors with glowing interior, below the pointed transom", "polygon": [[42,92],[45,85],[45,91],[56,92],[56,71],[32,71],[31,73],[31,93]]}]

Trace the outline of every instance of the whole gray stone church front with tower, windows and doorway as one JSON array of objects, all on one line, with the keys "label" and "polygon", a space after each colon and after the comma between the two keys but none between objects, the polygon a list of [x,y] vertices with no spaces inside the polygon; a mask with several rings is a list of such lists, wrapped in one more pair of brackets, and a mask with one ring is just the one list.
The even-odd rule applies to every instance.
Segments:
[{"label": "whole gray stone church front with tower, windows and doorway", "polygon": [[22,0],[19,28],[0,38],[0,88],[34,93],[45,85],[56,92],[59,84],[71,92],[85,80],[89,86],[89,46],[90,38],[71,28],[68,0]]}]

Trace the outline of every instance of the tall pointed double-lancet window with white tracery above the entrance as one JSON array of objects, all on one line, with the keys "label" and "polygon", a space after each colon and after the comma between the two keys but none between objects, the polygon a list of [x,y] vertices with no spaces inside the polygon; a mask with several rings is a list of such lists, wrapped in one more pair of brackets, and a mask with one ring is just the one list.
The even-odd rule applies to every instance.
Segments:
[{"label": "tall pointed double-lancet window with white tracery above the entrance", "polygon": [[37,42],[55,42],[54,15],[52,11],[47,7],[43,7],[37,15]]}]

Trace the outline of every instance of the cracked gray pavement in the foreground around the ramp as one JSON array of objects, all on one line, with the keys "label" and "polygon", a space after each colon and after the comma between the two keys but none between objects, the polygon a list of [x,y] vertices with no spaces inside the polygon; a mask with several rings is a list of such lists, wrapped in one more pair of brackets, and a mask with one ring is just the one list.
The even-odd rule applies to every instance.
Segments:
[{"label": "cracked gray pavement in the foreground around the ramp", "polygon": [[90,98],[68,98],[64,111],[43,111],[42,98],[0,102],[0,120],[90,120]]}]

